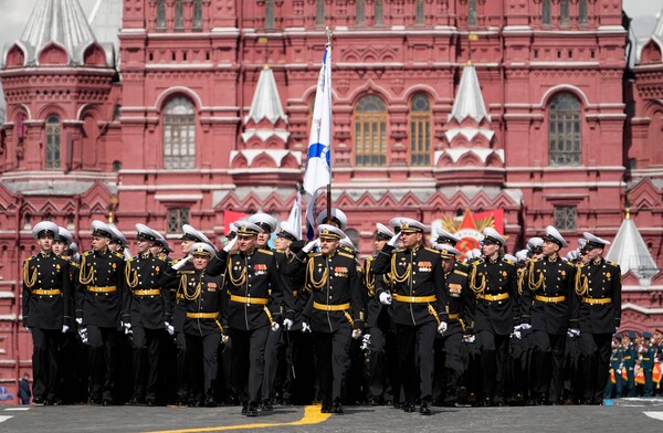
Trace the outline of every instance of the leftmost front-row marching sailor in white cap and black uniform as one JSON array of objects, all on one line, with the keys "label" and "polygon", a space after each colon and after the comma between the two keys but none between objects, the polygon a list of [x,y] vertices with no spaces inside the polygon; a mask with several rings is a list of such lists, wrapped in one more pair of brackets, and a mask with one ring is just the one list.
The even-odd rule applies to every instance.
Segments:
[{"label": "leftmost front-row marching sailor in white cap and black uniform", "polygon": [[23,325],[32,334],[32,401],[57,404],[59,351],[70,326],[69,261],[53,253],[59,229],[52,222],[34,225],[40,252],[23,262]]}]

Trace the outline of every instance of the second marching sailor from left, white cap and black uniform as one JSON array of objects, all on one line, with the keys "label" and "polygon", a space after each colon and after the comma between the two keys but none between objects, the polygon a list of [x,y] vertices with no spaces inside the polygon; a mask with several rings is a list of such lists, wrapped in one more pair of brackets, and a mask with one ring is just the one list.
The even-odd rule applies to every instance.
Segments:
[{"label": "second marching sailor from left, white cap and black uniform", "polygon": [[[90,345],[90,402],[113,404],[115,348],[124,289],[124,256],[108,249],[112,231],[92,222],[92,251],[83,254],[76,294],[76,321]],[[104,369],[105,362],[105,369]]]}]

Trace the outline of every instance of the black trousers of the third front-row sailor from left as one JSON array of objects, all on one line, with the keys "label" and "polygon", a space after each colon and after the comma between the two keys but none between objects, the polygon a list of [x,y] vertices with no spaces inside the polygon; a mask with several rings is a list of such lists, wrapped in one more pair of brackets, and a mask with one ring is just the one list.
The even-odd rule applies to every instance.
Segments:
[{"label": "black trousers of the third front-row sailor from left", "polygon": [[133,330],[134,397],[140,400],[156,400],[164,329],[136,326]]}]

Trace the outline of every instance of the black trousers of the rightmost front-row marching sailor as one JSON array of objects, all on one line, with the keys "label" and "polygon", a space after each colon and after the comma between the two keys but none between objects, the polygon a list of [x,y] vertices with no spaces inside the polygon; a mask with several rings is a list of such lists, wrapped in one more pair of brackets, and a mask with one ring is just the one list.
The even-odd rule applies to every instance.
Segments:
[{"label": "black trousers of the rightmost front-row marching sailor", "polygon": [[585,378],[585,400],[600,403],[609,379],[612,334],[580,332],[581,368]]}]

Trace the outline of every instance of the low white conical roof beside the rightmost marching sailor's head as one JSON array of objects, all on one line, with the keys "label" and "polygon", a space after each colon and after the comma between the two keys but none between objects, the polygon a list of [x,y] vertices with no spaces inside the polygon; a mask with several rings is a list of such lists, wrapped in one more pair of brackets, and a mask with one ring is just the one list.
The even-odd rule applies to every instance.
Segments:
[{"label": "low white conical roof beside the rightmost marching sailor's head", "polygon": [[632,271],[640,279],[650,279],[659,272],[656,262],[628,211],[606,260],[618,263],[622,275]]}]

